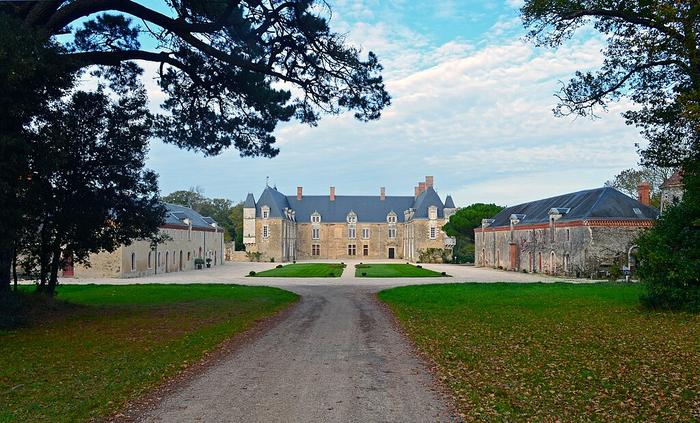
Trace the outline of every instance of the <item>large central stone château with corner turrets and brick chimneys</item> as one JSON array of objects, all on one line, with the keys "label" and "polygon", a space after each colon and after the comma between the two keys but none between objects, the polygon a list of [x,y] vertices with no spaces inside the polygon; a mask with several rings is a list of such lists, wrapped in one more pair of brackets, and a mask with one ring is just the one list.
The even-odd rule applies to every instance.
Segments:
[{"label": "large central stone ch\u00e2teau with corner turrets and brick chimneys", "polygon": [[262,260],[403,259],[418,261],[429,248],[448,255],[454,239],[442,226],[455,213],[448,195],[443,203],[427,176],[413,196],[284,195],[266,187],[257,201],[243,206],[243,243]]}]

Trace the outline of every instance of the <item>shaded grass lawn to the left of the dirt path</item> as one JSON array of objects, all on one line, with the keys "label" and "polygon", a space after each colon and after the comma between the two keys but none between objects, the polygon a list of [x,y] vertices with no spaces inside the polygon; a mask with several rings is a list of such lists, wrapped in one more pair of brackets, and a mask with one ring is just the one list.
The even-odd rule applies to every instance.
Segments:
[{"label": "shaded grass lawn to the left of the dirt path", "polygon": [[297,298],[237,285],[60,286],[66,303],[49,319],[0,331],[0,422],[99,420]]}]

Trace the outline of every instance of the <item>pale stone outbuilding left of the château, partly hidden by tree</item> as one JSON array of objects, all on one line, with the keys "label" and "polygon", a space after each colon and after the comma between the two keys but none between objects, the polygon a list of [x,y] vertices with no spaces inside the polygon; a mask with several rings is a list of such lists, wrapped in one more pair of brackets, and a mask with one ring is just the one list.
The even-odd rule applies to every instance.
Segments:
[{"label": "pale stone outbuilding left of the ch\u00e2teau, partly hidden by tree", "polygon": [[92,254],[89,267],[68,266],[63,277],[137,278],[182,272],[195,269],[196,258],[211,259],[211,266],[223,264],[224,229],[214,219],[176,204],[165,208],[160,234],[168,235],[168,241],[151,246],[148,240],[134,240],[111,253]]}]

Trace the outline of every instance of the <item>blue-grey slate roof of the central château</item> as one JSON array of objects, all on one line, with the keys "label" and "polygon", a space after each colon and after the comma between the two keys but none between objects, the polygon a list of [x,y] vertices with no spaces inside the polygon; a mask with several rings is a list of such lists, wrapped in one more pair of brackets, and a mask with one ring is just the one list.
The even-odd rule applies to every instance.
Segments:
[{"label": "blue-grey slate roof of the central ch\u00e2teau", "polygon": [[[246,199],[246,202],[248,200]],[[297,222],[311,221],[311,215],[318,212],[321,222],[345,222],[350,211],[355,212],[358,222],[386,222],[390,212],[396,213],[397,221],[404,221],[404,211],[414,208],[414,218],[427,218],[428,207],[438,208],[438,218],[443,217],[444,205],[432,187],[426,188],[417,198],[413,196],[378,195],[336,195],[331,201],[328,195],[304,195],[298,200],[295,195],[285,196],[276,188],[267,187],[260,195],[256,207],[256,216],[261,216],[261,208],[270,208],[270,217],[282,217],[286,207],[296,212]],[[248,207],[248,206],[245,206]]]}]

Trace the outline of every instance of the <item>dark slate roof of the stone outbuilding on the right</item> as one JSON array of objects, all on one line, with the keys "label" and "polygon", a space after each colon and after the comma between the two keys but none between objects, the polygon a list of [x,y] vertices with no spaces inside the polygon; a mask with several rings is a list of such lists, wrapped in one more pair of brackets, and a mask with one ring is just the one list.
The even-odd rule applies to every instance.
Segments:
[{"label": "dark slate roof of the stone outbuilding on the right", "polygon": [[558,222],[582,219],[643,220],[659,216],[655,208],[645,206],[614,188],[603,187],[507,207],[493,217],[494,222],[490,227],[510,226],[512,214],[525,215],[519,225],[549,223],[549,210],[555,207],[570,209]]}]

